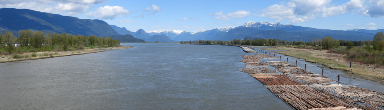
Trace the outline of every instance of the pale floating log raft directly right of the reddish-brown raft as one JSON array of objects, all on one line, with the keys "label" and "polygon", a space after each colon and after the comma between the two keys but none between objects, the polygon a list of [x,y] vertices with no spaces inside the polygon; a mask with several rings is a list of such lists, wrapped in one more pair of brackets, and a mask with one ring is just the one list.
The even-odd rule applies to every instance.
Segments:
[{"label": "pale floating log raft directly right of the reddish-brown raft", "polygon": [[317,74],[286,74],[286,75],[293,79],[303,81],[310,85],[334,82],[334,80],[332,80],[331,78],[317,75]]}]

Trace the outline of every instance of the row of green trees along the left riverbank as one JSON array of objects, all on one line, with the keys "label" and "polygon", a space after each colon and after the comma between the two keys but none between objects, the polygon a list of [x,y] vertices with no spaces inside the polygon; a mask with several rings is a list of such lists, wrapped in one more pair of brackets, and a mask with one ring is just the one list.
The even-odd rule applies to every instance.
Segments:
[{"label": "row of green trees along the left riverbank", "polygon": [[[117,47],[119,40],[111,37],[96,37],[72,35],[65,32],[44,33],[41,31],[21,30],[16,37],[12,32],[7,31],[0,34],[0,54],[14,54],[23,52],[39,52],[60,50],[83,50],[84,47]],[[16,43],[17,45],[14,45]],[[19,46],[18,46],[19,45]],[[18,47],[17,47],[18,46]]]}]

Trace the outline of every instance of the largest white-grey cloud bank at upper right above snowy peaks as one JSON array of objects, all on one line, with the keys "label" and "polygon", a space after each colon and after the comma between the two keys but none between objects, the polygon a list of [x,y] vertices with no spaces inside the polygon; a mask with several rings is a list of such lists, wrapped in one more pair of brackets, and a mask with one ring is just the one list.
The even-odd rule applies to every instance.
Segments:
[{"label": "largest white-grey cloud bank at upper right above snowy peaks", "polygon": [[321,17],[350,13],[364,7],[364,0],[350,0],[341,5],[332,5],[332,0],[291,0],[268,6],[254,16],[271,19],[288,19],[291,23],[301,23]]}]

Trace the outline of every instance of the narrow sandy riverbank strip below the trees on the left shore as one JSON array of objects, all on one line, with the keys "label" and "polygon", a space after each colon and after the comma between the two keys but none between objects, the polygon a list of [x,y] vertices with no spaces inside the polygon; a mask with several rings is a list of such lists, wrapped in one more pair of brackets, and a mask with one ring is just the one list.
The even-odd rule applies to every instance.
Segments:
[{"label": "narrow sandy riverbank strip below the trees on the left shore", "polygon": [[[36,60],[43,58],[54,58],[54,57],[64,57],[71,55],[83,55],[86,53],[97,53],[104,52],[110,49],[129,49],[132,46],[121,46],[121,47],[107,47],[107,48],[89,48],[84,50],[74,50],[74,51],[58,51],[58,52],[28,52],[20,55],[0,55],[0,63],[12,62],[12,61],[23,61],[23,60]],[[20,56],[20,57],[19,57]]]}]

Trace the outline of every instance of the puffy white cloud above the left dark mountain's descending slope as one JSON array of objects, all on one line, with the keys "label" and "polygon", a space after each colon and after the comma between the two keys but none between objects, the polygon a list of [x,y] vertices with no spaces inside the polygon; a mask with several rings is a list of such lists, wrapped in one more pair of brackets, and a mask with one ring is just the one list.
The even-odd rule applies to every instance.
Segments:
[{"label": "puffy white cloud above the left dark mountain's descending slope", "polygon": [[125,10],[121,6],[104,6],[100,7],[98,10],[87,13],[88,16],[99,18],[99,19],[115,19],[116,17],[122,17],[124,15],[129,15],[129,11]]}]

